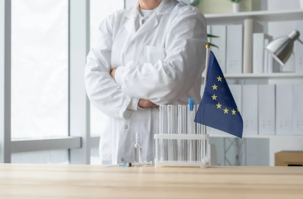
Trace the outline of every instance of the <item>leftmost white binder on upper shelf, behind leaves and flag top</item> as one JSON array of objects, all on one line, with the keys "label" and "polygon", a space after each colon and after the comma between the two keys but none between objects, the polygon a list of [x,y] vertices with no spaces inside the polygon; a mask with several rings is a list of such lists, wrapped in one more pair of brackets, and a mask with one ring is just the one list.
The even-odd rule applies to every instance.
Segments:
[{"label": "leftmost white binder on upper shelf, behind leaves and flag top", "polygon": [[218,63],[221,67],[223,74],[226,73],[226,26],[214,25],[211,27],[211,34],[219,36],[218,38],[212,38],[211,42],[217,45],[219,48],[212,47],[212,51],[216,55]]}]

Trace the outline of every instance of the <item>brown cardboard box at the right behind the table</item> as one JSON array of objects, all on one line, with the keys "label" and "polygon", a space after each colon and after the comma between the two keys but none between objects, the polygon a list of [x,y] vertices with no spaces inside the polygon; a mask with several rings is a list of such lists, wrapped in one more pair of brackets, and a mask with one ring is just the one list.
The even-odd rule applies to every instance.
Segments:
[{"label": "brown cardboard box at the right behind the table", "polygon": [[275,166],[303,166],[303,151],[275,153]]}]

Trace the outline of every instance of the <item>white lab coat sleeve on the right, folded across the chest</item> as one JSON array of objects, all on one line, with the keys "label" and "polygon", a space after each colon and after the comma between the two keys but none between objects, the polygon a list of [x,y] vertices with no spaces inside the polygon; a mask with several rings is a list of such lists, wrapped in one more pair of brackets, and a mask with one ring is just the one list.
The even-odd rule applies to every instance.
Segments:
[{"label": "white lab coat sleeve on the right, folded across the chest", "polygon": [[205,69],[206,19],[196,8],[180,9],[166,35],[166,58],[156,63],[128,62],[119,67],[122,91],[158,105],[172,103],[189,92]]}]

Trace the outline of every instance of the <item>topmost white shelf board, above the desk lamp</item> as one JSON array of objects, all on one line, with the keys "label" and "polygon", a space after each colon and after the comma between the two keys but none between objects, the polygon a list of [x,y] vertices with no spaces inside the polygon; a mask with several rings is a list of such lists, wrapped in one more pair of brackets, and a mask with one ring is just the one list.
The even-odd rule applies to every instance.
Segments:
[{"label": "topmost white shelf board, above the desk lamp", "polygon": [[243,23],[244,19],[264,22],[295,21],[303,19],[303,9],[206,14],[205,17],[208,25],[239,24]]}]

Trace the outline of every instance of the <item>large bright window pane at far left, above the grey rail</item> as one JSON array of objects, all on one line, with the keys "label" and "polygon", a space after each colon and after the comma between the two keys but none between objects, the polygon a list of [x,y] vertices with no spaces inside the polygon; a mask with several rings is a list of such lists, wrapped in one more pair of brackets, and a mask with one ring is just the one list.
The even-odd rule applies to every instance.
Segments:
[{"label": "large bright window pane at far left, above the grey rail", "polygon": [[12,138],[68,136],[68,0],[12,0],[11,122]]}]

